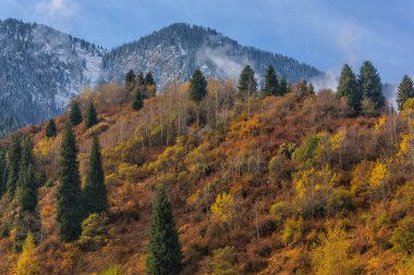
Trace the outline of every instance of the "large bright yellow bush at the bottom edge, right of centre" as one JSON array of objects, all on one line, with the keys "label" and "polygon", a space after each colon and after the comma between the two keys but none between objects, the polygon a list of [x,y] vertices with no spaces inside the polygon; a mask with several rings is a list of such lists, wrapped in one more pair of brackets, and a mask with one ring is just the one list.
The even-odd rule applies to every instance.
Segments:
[{"label": "large bright yellow bush at the bottom edge, right of centre", "polygon": [[312,264],[318,275],[352,274],[349,255],[350,241],[341,228],[328,229],[319,236],[320,246],[312,251]]}]

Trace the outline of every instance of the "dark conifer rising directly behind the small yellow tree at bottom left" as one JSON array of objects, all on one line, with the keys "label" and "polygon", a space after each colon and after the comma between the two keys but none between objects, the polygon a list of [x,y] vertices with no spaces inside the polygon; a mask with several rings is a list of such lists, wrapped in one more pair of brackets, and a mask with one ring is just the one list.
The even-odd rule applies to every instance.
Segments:
[{"label": "dark conifer rising directly behind the small yellow tree at bottom left", "polygon": [[14,247],[21,251],[28,233],[40,232],[40,216],[37,212],[37,183],[33,165],[21,171],[19,184],[19,213]]}]

